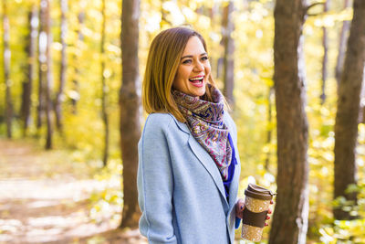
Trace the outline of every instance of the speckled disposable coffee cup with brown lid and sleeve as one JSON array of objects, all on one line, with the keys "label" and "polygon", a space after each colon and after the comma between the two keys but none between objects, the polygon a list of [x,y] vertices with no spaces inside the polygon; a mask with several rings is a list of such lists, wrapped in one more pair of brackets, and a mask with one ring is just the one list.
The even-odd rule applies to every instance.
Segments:
[{"label": "speckled disposable coffee cup with brown lid and sleeve", "polygon": [[270,190],[249,184],[245,189],[245,209],[242,218],[242,238],[260,241],[268,207],[275,196]]}]

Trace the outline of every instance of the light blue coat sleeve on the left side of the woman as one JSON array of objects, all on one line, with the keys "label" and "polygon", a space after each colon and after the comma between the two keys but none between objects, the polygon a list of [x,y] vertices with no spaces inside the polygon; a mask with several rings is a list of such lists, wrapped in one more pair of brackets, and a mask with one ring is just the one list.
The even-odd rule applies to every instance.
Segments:
[{"label": "light blue coat sleeve on the left side of the woman", "polygon": [[171,122],[149,116],[139,143],[140,231],[149,243],[177,243],[172,227],[172,167],[167,131]]}]

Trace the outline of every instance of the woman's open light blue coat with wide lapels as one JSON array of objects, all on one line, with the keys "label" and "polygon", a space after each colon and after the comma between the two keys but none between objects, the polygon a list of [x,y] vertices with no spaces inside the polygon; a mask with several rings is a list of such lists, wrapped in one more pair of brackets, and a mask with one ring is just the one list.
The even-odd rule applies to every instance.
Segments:
[{"label": "woman's open light blue coat with wide lapels", "polygon": [[139,143],[138,191],[141,234],[152,244],[233,244],[240,175],[235,122],[224,122],[235,143],[235,175],[224,194],[211,156],[188,127],[169,113],[147,118]]}]

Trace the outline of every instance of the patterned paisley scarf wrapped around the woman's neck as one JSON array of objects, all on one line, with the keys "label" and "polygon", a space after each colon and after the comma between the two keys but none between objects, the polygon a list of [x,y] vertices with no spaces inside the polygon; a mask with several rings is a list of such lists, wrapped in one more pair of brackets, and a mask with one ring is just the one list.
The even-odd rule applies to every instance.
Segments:
[{"label": "patterned paisley scarf wrapped around the woman's neck", "polygon": [[228,128],[224,124],[224,100],[222,93],[208,85],[213,102],[192,97],[173,90],[172,96],[187,121],[193,137],[213,158],[224,181],[228,179],[228,166],[232,160],[232,148],[228,140]]}]

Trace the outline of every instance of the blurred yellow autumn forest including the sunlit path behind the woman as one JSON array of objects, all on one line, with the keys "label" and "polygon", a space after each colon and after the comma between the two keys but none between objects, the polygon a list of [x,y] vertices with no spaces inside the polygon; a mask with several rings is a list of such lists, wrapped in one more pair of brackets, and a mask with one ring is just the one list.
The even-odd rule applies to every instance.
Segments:
[{"label": "blurred yellow autumn forest including the sunlit path behind the woman", "polygon": [[[279,2],[286,1],[2,0],[0,243],[146,243],[138,230],[132,142],[146,118],[140,96],[148,48],[168,27],[189,25],[207,42],[214,78],[238,129],[239,195],[248,183],[276,191]],[[305,1],[287,1],[287,7],[298,2]],[[298,69],[307,97],[302,163],[308,177],[300,191],[309,205],[299,207],[308,213],[300,214],[308,228],[298,232],[308,243],[365,243],[362,93],[355,101],[359,122],[350,125],[357,132],[358,143],[349,149],[355,158],[345,162],[352,176],[346,194],[334,195],[339,83],[354,8],[349,0],[327,0],[308,1],[302,10],[306,19],[297,30],[303,46],[297,50],[304,58]],[[138,119],[126,120],[131,114]],[[333,209],[342,215],[335,217]],[[275,225],[265,228],[262,243]],[[249,243],[239,236],[237,230],[237,243]]]}]

